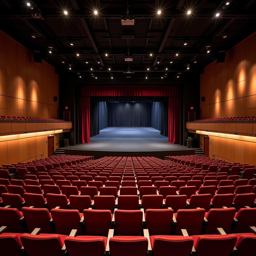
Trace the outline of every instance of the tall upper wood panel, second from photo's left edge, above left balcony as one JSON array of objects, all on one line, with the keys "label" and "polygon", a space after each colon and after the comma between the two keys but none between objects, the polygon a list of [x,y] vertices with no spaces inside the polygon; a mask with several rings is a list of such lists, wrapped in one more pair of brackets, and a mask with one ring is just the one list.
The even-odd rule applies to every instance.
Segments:
[{"label": "tall upper wood panel, second from photo's left edge, above left balcony", "polygon": [[17,42],[6,36],[7,96],[17,98]]}]

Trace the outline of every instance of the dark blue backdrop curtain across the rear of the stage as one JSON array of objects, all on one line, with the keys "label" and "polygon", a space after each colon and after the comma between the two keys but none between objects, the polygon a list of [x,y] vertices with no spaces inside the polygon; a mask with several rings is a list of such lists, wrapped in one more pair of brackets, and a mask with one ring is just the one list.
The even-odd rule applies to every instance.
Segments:
[{"label": "dark blue backdrop curtain across the rear of the stage", "polygon": [[109,102],[109,126],[151,126],[150,102]]}]

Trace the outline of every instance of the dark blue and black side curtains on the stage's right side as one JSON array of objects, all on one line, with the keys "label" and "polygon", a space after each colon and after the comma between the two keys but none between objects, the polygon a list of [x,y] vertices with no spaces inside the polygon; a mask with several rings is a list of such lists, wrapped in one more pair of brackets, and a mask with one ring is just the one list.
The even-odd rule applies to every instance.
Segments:
[{"label": "dark blue and black side curtains on the stage's right side", "polygon": [[168,102],[152,102],[151,126],[168,136]]}]

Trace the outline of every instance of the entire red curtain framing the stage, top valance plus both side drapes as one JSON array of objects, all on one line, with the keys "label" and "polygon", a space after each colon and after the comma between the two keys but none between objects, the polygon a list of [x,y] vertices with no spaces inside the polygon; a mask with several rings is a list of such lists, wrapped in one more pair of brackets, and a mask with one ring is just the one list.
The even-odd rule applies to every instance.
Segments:
[{"label": "entire red curtain framing the stage, top valance plus both side drapes", "polygon": [[90,96],[169,96],[168,142],[179,143],[177,86],[83,86],[79,104],[79,143],[90,142]]}]

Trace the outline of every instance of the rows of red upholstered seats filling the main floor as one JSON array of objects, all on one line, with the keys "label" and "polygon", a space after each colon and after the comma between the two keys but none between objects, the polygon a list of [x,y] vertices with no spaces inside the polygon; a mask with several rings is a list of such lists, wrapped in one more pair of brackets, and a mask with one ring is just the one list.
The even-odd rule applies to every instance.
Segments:
[{"label": "rows of red upholstered seats filling the main floor", "polygon": [[[38,253],[41,239],[45,239],[46,244],[60,239],[56,240],[58,253],[61,253],[61,248],[63,252],[63,246],[66,246],[70,255],[79,255],[79,248],[87,248],[92,242],[99,244],[99,251],[109,251],[111,255],[120,255],[124,248],[129,252],[132,246],[141,253],[162,255],[168,248],[177,250],[178,242],[187,244],[189,253],[191,250],[199,253],[205,248],[204,243],[221,244],[222,236],[237,243],[242,252],[246,250],[244,243],[247,238],[249,242],[246,248],[254,241],[250,229],[256,225],[255,208],[250,208],[255,207],[256,194],[252,193],[255,190],[252,186],[254,179],[229,175],[229,169],[226,175],[221,175],[220,164],[215,172],[207,172],[199,168],[210,169],[216,164],[205,167],[199,162],[199,170],[195,170],[185,166],[185,161],[181,164],[174,159],[155,157],[73,158],[77,161],[72,163],[70,158],[70,161],[58,161],[62,167],[52,164],[51,170],[42,164],[42,170],[45,170],[42,174],[45,175],[36,172],[35,177],[31,177],[33,179],[22,179],[19,175],[15,179],[8,176],[0,179],[3,206],[0,208],[0,225],[7,227],[3,239],[7,236],[13,239],[16,246],[23,245],[28,255]],[[46,160],[49,163],[50,159]],[[126,166],[129,166],[129,171]],[[83,173],[85,168],[88,169],[86,175]],[[101,175],[105,169],[111,169],[106,170],[110,176]],[[250,168],[240,172],[247,169]],[[165,173],[163,170],[168,171]],[[178,180],[177,174],[181,174],[178,175],[181,180]],[[41,176],[44,176],[43,179]],[[225,176],[225,179],[218,180],[221,176]],[[97,181],[97,177],[105,178],[105,185]],[[125,180],[126,177],[132,180]],[[228,235],[218,235],[218,228]],[[33,233],[35,229],[36,234],[27,233]],[[186,232],[189,236],[186,236]],[[70,236],[70,233],[73,235]],[[20,243],[15,240],[19,237]],[[1,239],[0,234],[0,245]],[[37,243],[38,248],[35,247]],[[191,249],[193,243],[194,249]],[[52,246],[54,248],[54,243]]]}]

